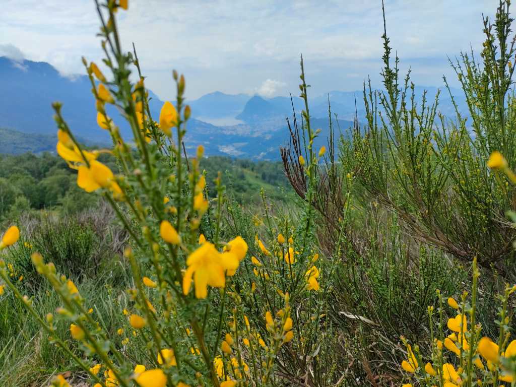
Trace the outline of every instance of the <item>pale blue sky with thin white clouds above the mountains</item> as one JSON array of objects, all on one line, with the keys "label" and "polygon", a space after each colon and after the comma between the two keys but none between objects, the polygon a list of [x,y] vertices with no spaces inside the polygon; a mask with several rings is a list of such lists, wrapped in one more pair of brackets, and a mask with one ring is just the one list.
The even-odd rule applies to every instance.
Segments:
[{"label": "pale blue sky with thin white clouds above the mountains", "polygon": [[[416,85],[456,79],[447,56],[483,41],[482,14],[498,0],[385,0],[386,24],[402,71]],[[136,45],[146,85],[173,99],[171,70],[187,98],[222,91],[265,97],[298,93],[303,55],[309,93],[380,86],[381,0],[129,0],[118,12],[122,45]],[[93,0],[2,0],[0,56],[51,63],[84,74],[81,56],[100,62]]]}]

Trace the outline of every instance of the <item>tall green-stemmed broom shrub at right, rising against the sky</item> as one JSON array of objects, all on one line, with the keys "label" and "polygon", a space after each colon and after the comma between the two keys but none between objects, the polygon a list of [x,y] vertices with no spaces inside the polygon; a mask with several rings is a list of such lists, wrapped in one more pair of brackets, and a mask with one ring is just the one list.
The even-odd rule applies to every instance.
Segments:
[{"label": "tall green-stemmed broom shrub at right, rising against the sky", "polygon": [[515,191],[486,167],[495,150],[506,152],[509,166],[515,162],[509,2],[500,2],[493,23],[483,23],[481,62],[462,54],[453,65],[469,117],[457,106],[455,119],[440,114],[439,93],[434,101],[423,95],[418,105],[410,71],[400,79],[385,33],[384,90],[364,85],[366,125],[356,125],[349,146],[361,186],[396,212],[415,238],[466,263],[476,256],[481,267],[510,278],[514,229],[503,219]]}]

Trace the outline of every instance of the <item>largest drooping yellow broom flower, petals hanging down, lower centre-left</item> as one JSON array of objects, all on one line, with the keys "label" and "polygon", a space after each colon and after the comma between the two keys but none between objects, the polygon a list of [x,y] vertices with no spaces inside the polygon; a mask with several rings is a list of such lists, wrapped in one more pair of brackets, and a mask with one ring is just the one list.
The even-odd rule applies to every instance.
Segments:
[{"label": "largest drooping yellow broom flower, petals hanging down, lower centre-left", "polygon": [[193,278],[196,297],[206,298],[207,285],[225,286],[225,271],[236,270],[238,257],[235,254],[220,254],[212,243],[205,242],[188,255],[186,265],[188,268],[183,277],[183,293],[188,294]]}]

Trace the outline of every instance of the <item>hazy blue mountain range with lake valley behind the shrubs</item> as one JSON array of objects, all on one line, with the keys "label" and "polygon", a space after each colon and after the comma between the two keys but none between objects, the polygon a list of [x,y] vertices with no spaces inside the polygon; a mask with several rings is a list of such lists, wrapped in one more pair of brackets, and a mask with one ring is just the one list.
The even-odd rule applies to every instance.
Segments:
[{"label": "hazy blue mountain range with lake valley behind the shrubs", "polygon": [[[6,128],[10,137],[18,131],[30,139],[28,149],[46,149],[49,139],[55,141],[56,125],[53,120],[52,102],[63,103],[63,116],[76,136],[88,143],[110,143],[109,135],[96,124],[94,98],[91,84],[84,75],[65,77],[49,63],[24,60],[15,62],[0,57],[0,128]],[[437,88],[416,87],[416,95],[427,89],[427,99],[433,101]],[[460,90],[453,90],[459,108],[465,111],[464,98]],[[150,108],[154,119],[158,119],[163,104],[149,91]],[[363,120],[363,93],[331,91],[326,95],[310,99],[310,114],[313,127],[321,128],[316,146],[326,144],[328,136],[328,96],[332,119],[338,116],[338,126],[346,130],[351,126],[355,112]],[[355,104],[356,99],[356,104]],[[421,98],[418,99],[418,103]],[[303,101],[296,95],[263,98],[259,95],[224,94],[214,92],[187,103],[192,108],[192,119],[188,122],[185,146],[193,151],[202,143],[208,155],[230,155],[254,159],[278,159],[279,146],[289,139],[286,117],[292,117],[293,105],[298,119],[304,108]],[[357,106],[357,109],[356,109]],[[453,106],[447,91],[441,93],[439,109],[447,116],[453,116]],[[114,106],[108,105],[107,112],[117,125],[122,136],[131,138],[130,127]],[[7,132],[5,132],[7,133]],[[23,149],[21,141],[10,146],[9,136],[0,137],[0,152],[18,153]],[[37,142],[42,146],[38,147]],[[11,149],[12,148],[12,149]]]}]

